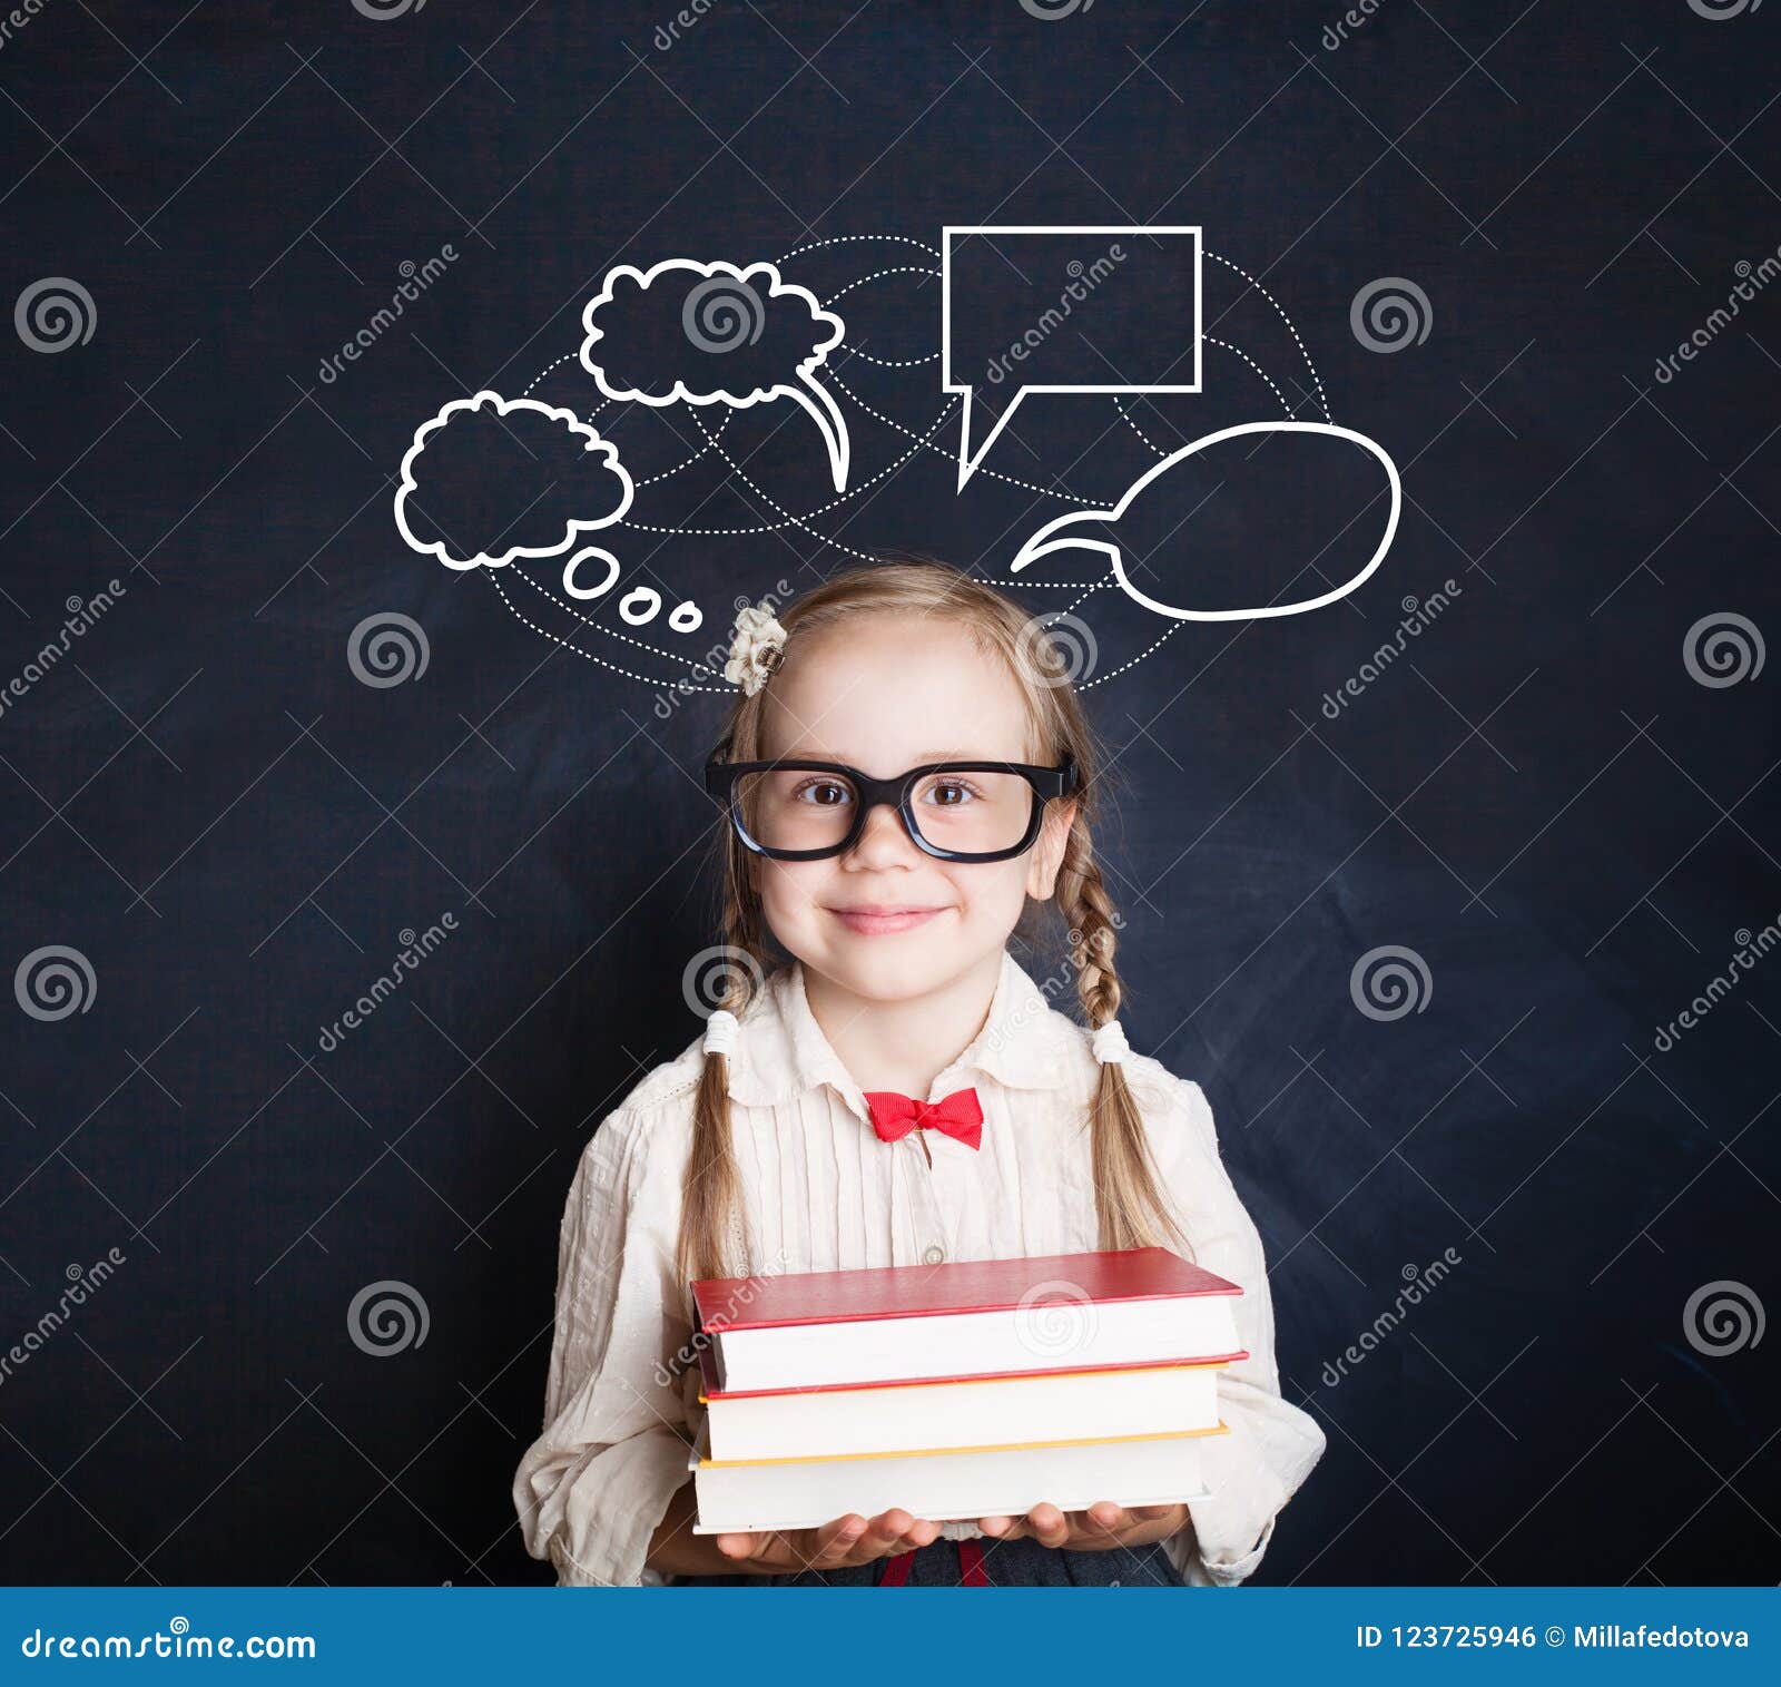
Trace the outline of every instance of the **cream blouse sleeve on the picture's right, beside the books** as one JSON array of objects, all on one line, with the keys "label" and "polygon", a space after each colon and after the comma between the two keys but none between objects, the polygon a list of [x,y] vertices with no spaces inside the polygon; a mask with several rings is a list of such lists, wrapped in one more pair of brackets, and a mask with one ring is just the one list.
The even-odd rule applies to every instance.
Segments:
[{"label": "cream blouse sleeve on the picture's right, beside the books", "polygon": [[1159,1169],[1197,1263],[1243,1290],[1236,1327],[1248,1357],[1218,1373],[1218,1416],[1229,1434],[1208,1436],[1208,1498],[1190,1502],[1190,1527],[1163,1546],[1183,1582],[1232,1587],[1261,1562],[1281,1507],[1323,1455],[1325,1436],[1309,1413],[1281,1397],[1268,1265],[1224,1167],[1211,1106],[1197,1083],[1172,1083],[1177,1099]]}]

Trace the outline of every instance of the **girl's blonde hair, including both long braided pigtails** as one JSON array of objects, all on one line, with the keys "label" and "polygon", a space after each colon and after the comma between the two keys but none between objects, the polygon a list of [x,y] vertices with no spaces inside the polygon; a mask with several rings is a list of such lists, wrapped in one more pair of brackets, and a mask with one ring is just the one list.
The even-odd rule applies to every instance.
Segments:
[{"label": "girl's blonde hair, including both long braided pigtails", "polygon": [[[1038,757],[1076,761],[1081,782],[1053,903],[1069,930],[1083,1015],[1090,1026],[1106,1024],[1118,1015],[1124,990],[1113,964],[1113,900],[1092,843],[1101,755],[1074,688],[1045,664],[1044,627],[1013,599],[946,563],[894,561],[835,574],[791,604],[780,615],[785,659],[819,629],[867,613],[933,615],[964,625],[985,652],[1006,661],[1022,691]],[[727,732],[732,761],[760,759],[760,725],[771,684],[769,679],[753,697],[737,695]],[[753,860],[734,830],[725,827],[723,942],[755,962],[753,969],[728,969],[728,996],[721,1006],[732,1014],[746,1006],[750,974],[766,976],[769,967]],[[1191,1256],[1191,1245],[1159,1194],[1143,1119],[1124,1071],[1118,1064],[1102,1064],[1099,1074],[1088,1117],[1099,1245],[1147,1247],[1167,1235]],[[675,1252],[680,1281],[744,1275],[750,1249],[730,1137],[728,1060],[723,1055],[705,1055],[680,1188]],[[732,1256],[732,1242],[743,1258]]]}]

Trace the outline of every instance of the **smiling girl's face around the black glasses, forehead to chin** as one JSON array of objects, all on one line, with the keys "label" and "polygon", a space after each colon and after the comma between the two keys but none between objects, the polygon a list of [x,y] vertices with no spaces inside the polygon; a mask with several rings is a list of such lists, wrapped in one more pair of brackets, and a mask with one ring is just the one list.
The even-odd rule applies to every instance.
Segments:
[{"label": "smiling girl's face around the black glasses, forehead to chin", "polygon": [[[1006,663],[956,622],[887,611],[798,641],[768,686],[762,759],[810,757],[894,778],[933,761],[1049,762]],[[755,860],[780,944],[853,996],[907,1001],[999,957],[1028,896],[1049,898],[1072,805],[1053,802],[1026,855],[937,860],[896,809],[869,812],[830,860]]]}]

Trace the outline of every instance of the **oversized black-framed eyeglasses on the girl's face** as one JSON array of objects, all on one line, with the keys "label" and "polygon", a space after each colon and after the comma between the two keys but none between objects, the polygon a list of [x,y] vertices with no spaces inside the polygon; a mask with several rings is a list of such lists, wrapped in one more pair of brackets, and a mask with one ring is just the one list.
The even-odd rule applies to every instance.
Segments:
[{"label": "oversized black-framed eyeglasses on the girl's face", "polygon": [[871,778],[834,761],[705,762],[705,789],[725,805],[743,846],[769,860],[846,855],[880,803],[910,843],[937,860],[1008,860],[1033,848],[1045,803],[1076,789],[1076,762],[940,761]]}]

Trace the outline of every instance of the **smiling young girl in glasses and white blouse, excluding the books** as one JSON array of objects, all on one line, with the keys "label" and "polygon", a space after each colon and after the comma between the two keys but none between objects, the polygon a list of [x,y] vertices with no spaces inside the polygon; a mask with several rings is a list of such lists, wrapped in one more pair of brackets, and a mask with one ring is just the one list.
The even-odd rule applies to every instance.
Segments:
[{"label": "smiling young girl in glasses and white blouse, excluding the books", "polygon": [[[1266,1263],[1206,1097],[1120,1033],[1095,752],[1035,632],[937,563],[837,575],[784,625],[737,616],[741,695],[707,771],[732,994],[581,1156],[545,1430],[513,1484],[559,1584],[1231,1585],[1322,1455],[1281,1398]],[[1042,903],[1090,1030],[1008,955]],[[1145,1245],[1243,1290],[1208,1498],[691,1532],[691,1279]]]}]

